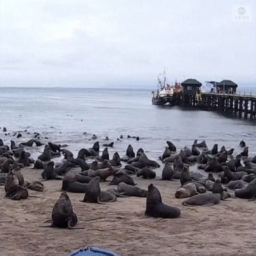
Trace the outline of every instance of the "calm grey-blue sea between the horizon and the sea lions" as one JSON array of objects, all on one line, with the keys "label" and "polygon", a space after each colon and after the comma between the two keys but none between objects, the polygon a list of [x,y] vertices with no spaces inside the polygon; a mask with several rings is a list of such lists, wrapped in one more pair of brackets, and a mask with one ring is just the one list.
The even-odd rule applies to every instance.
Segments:
[{"label": "calm grey-blue sea between the horizon and the sea lions", "polygon": [[[219,149],[242,149],[244,139],[251,156],[256,155],[256,123],[225,117],[219,113],[187,110],[179,107],[151,105],[151,89],[90,89],[90,88],[1,88],[0,138],[9,145],[27,141],[34,132],[41,141],[67,144],[76,155],[79,149],[91,147],[97,140],[114,141],[110,153],[121,156],[129,144],[135,151],[142,147],[149,157],[156,159],[165,149],[165,141],[172,141],[178,149],[191,147],[193,141],[205,139],[209,149],[218,143]],[[7,128],[7,133],[3,132]],[[26,130],[26,131],[25,131]],[[17,139],[17,131],[22,137]],[[123,135],[124,139],[117,141]],[[128,139],[127,135],[140,139]],[[103,147],[101,147],[103,150]],[[43,147],[35,147],[36,157]]]}]

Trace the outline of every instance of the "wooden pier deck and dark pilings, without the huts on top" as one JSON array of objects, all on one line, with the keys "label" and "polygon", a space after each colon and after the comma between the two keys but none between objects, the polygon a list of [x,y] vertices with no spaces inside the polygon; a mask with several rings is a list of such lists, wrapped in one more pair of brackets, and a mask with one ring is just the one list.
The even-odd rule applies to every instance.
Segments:
[{"label": "wooden pier deck and dark pilings, without the huts on top", "polygon": [[181,95],[181,105],[229,113],[244,119],[256,119],[256,95],[200,93]]}]

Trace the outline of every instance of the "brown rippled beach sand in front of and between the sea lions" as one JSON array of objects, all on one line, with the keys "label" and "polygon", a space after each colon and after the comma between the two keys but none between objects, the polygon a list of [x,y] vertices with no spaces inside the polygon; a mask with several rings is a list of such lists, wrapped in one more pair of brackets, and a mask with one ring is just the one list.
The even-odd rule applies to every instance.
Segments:
[{"label": "brown rippled beach sand in front of and between the sea lions", "polygon": [[[25,179],[41,171],[25,169]],[[184,207],[175,199],[179,182],[135,178],[146,189],[153,182],[163,202],[181,209],[178,219],[145,218],[145,198],[118,198],[115,203],[82,203],[83,194],[69,193],[81,230],[39,228],[51,218],[61,181],[45,181],[47,191],[29,191],[22,201],[5,199],[0,188],[0,255],[68,255],[91,245],[134,255],[256,255],[256,203],[232,198],[212,207]],[[107,187],[101,183],[101,189]]]}]

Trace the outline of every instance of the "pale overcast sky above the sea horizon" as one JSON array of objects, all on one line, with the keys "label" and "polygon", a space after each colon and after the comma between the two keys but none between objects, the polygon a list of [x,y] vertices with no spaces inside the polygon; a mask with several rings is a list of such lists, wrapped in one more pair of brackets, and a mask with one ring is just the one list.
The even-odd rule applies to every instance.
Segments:
[{"label": "pale overcast sky above the sea horizon", "polygon": [[0,86],[154,87],[164,66],[253,83],[255,3],[0,0]]}]

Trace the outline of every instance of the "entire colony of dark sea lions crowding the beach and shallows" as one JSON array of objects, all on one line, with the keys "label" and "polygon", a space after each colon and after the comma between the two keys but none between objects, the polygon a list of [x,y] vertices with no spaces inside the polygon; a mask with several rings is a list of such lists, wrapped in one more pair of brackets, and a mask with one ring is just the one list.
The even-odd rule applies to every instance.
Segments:
[{"label": "entire colony of dark sea lions crowding the beach and shallows", "polygon": [[[5,129],[6,131],[6,129]],[[17,138],[21,137],[18,133]],[[137,141],[139,137],[127,136]],[[92,139],[97,139],[93,135]],[[123,139],[121,135],[120,139]],[[120,141],[120,139],[118,139]],[[105,139],[109,140],[108,137]],[[29,148],[42,148],[42,153],[36,160],[31,159]],[[206,142],[194,141],[191,148],[184,147],[177,152],[171,141],[159,157],[163,163],[161,179],[171,182],[179,181],[181,187],[175,193],[176,198],[186,198],[185,206],[215,205],[230,197],[228,189],[235,190],[235,197],[255,200],[256,198],[256,156],[249,157],[249,149],[245,141],[239,143],[241,153],[233,156],[233,149],[225,149],[215,144],[213,149],[207,148]],[[148,190],[136,187],[133,175],[142,179],[155,179],[155,168],[161,167],[157,161],[151,160],[139,149],[137,153],[128,145],[125,156],[118,152],[109,158],[107,147],[114,147],[114,143],[104,143],[105,149],[100,152],[99,142],[95,142],[89,149],[80,149],[77,157],[66,149],[67,145],[57,145],[52,142],[44,144],[40,141],[39,133],[33,139],[16,145],[6,145],[0,139],[0,185],[5,189],[5,197],[13,200],[27,199],[29,189],[43,192],[43,181],[61,179],[63,191],[53,207],[51,225],[49,227],[66,227],[73,229],[77,223],[77,215],[67,192],[82,193],[81,202],[109,203],[115,202],[117,197],[147,197],[145,215],[149,217],[176,218],[181,215],[177,207],[165,205],[157,187],[150,183]],[[53,159],[61,157],[61,163]],[[33,165],[33,169],[42,169],[41,177],[37,181],[26,181],[22,175],[22,168]],[[191,165],[197,165],[200,172],[189,171]],[[75,171],[79,167],[80,171]],[[203,174],[207,174],[207,176]],[[213,175],[214,173],[214,175]],[[214,177],[215,176],[215,177]],[[101,191],[100,182],[111,177],[107,191]],[[109,181],[107,181],[109,182]],[[231,200],[229,200],[231,201]]]}]

